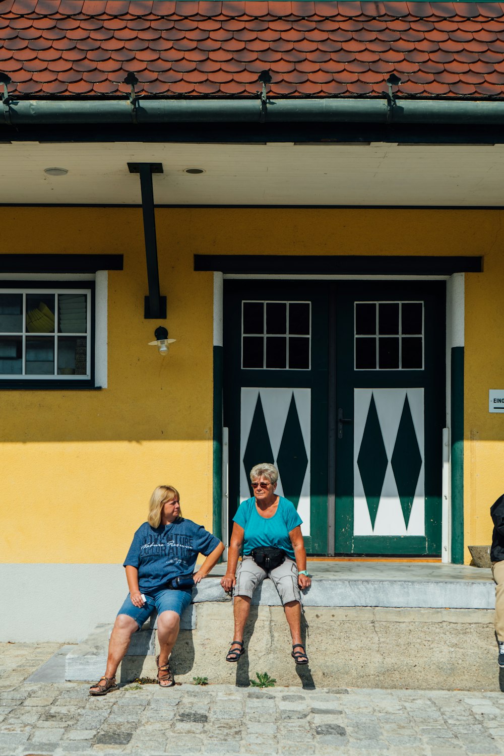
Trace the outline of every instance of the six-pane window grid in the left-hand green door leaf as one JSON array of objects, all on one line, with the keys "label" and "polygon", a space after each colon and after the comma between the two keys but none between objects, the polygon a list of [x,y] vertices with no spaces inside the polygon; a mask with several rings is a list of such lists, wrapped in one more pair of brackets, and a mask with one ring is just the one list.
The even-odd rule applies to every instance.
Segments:
[{"label": "six-pane window grid in the left-hand green door leaf", "polygon": [[243,370],[311,369],[311,302],[242,302]]}]

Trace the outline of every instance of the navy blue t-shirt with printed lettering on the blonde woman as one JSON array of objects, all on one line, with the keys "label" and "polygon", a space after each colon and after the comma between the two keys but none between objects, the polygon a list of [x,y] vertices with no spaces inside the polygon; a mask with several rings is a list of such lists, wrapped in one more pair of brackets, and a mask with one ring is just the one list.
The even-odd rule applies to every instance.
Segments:
[{"label": "navy blue t-shirt with printed lettering on the blonde woman", "polygon": [[219,543],[203,525],[184,517],[159,528],[144,522],[133,536],[124,566],[138,569],[138,587],[149,593],[179,575],[192,575],[198,554],[209,556]]}]

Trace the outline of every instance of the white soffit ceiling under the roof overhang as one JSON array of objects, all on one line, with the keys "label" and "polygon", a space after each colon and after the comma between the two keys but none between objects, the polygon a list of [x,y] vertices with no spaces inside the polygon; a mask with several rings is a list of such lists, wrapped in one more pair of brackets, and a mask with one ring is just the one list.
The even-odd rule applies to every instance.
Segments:
[{"label": "white soffit ceiling under the roof overhang", "polygon": [[0,203],[140,204],[127,163],[162,163],[158,205],[504,205],[504,145],[382,142],[0,144]]}]

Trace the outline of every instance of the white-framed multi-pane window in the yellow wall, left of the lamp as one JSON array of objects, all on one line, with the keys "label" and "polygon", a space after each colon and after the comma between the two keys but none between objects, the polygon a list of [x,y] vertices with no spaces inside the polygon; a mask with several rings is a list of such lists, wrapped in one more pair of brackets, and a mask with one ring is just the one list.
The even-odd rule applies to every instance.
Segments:
[{"label": "white-framed multi-pane window in the yellow wall, left of the lamp", "polygon": [[90,289],[0,289],[0,380],[90,377]]}]

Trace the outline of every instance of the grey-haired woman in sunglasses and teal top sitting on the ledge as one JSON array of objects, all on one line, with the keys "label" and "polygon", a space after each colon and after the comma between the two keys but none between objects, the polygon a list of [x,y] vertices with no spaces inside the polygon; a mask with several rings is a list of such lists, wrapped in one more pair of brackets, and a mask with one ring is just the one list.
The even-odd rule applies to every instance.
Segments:
[{"label": "grey-haired woman in sunglasses and teal top sitting on the ledge", "polygon": [[[227,554],[227,572],[221,580],[226,591],[234,587],[234,640],[227,662],[237,662],[243,654],[243,631],[255,588],[271,578],[277,588],[292,636],[292,657],[296,664],[308,664],[301,641],[301,591],[311,579],[306,572],[306,551],[301,534],[301,517],[294,505],[275,494],[278,470],[270,463],[252,467],[255,493],[243,501],[233,517],[233,532]],[[237,570],[238,556],[243,556]],[[235,576],[236,573],[236,576]]]}]

